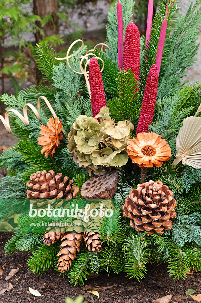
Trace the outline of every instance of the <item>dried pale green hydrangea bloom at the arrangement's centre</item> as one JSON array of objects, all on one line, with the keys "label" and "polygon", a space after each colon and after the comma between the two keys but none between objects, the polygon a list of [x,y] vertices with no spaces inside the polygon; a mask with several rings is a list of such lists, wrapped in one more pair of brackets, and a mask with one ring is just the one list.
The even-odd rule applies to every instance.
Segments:
[{"label": "dried pale green hydrangea bloom at the arrangement's centre", "polygon": [[[100,119],[100,123],[97,118]],[[112,168],[120,168],[128,161],[126,152],[133,124],[130,121],[115,123],[107,106],[95,118],[80,115],[68,134],[68,150],[79,167],[91,176],[103,175]]]}]

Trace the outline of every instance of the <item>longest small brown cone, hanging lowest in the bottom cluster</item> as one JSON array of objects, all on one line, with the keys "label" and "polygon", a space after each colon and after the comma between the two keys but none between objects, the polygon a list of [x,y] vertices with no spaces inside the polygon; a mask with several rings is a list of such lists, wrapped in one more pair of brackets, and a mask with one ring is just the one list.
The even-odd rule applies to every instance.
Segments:
[{"label": "longest small brown cone, hanging lowest in the bottom cluster", "polygon": [[61,238],[61,249],[58,252],[58,270],[61,272],[68,271],[72,260],[76,257],[76,253],[80,252],[80,246],[82,244],[82,233],[77,233],[75,231],[65,232]]}]

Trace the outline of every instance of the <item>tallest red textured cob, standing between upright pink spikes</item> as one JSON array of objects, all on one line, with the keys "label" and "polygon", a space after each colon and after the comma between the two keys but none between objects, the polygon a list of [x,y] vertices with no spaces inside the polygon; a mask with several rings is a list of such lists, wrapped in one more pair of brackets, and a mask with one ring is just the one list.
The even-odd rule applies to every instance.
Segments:
[{"label": "tallest red textured cob, standing between upright pink spikes", "polygon": [[129,68],[135,73],[135,78],[140,76],[140,33],[137,25],[130,22],[126,28],[124,40],[124,70]]}]

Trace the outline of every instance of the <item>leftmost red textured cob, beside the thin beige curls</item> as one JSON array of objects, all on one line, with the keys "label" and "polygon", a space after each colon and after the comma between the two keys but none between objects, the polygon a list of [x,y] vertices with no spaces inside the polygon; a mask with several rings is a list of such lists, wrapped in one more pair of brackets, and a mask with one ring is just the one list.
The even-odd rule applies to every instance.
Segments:
[{"label": "leftmost red textured cob, beside the thin beige curls", "polygon": [[92,114],[95,117],[100,112],[101,107],[106,106],[101,70],[95,58],[91,58],[89,62],[89,84]]}]

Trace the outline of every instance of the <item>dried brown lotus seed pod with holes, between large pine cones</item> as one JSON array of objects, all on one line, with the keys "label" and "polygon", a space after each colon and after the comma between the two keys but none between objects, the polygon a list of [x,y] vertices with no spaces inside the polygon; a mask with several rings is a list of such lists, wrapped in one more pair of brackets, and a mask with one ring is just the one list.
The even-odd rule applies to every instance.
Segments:
[{"label": "dried brown lotus seed pod with holes, between large pine cones", "polygon": [[81,195],[85,199],[112,199],[117,191],[117,179],[116,170],[94,176],[82,185]]}]

